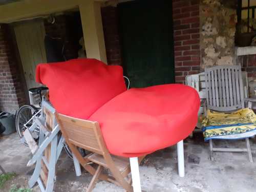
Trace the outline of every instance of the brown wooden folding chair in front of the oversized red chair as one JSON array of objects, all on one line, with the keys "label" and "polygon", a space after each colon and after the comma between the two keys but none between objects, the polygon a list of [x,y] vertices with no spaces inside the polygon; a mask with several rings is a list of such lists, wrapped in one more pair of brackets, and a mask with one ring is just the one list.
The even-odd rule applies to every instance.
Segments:
[{"label": "brown wooden folding chair in front of the oversized red chair", "polygon": [[[125,180],[125,177],[131,172],[129,159],[110,155],[98,122],[81,120],[57,113],[56,119],[71,151],[80,164],[93,175],[87,192],[92,191],[97,179],[110,181],[122,186],[126,191],[133,191],[132,180],[130,179],[130,182]],[[82,157],[77,147],[92,153]],[[139,158],[139,163],[143,158]],[[90,165],[92,162],[98,164],[97,169]],[[103,167],[110,169],[112,176],[102,174]]]}]

